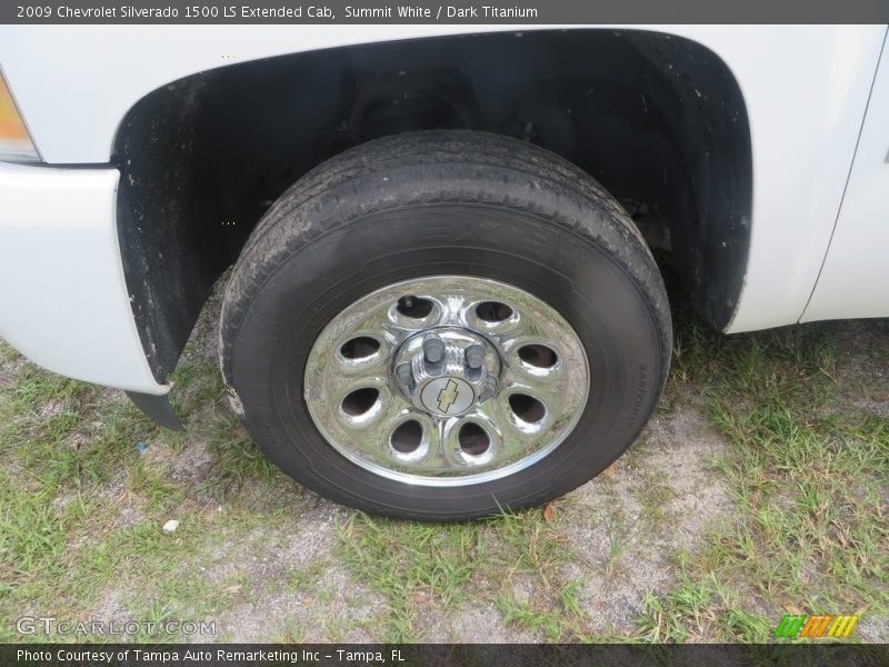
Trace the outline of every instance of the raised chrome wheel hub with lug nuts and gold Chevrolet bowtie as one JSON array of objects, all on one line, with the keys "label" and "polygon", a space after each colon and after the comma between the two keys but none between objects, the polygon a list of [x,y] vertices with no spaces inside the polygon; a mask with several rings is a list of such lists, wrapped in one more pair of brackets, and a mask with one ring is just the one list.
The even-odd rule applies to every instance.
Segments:
[{"label": "raised chrome wheel hub with lug nuts and gold Chevrolet bowtie", "polygon": [[500,355],[463,327],[420,331],[396,350],[392,375],[404,396],[433,417],[466,415],[497,390]]}]

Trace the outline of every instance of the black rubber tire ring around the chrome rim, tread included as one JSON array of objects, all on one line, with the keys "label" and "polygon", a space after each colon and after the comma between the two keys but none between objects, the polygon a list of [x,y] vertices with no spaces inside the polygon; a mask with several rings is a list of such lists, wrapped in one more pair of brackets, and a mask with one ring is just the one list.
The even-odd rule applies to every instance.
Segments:
[{"label": "black rubber tire ring around the chrome rim, tread included", "polygon": [[[406,485],[346,459],[303,400],[319,332],[380,287],[471,275],[556,308],[587,352],[580,421],[553,451],[505,478]],[[228,285],[221,364],[257,445],[288,475],[369,512],[459,520],[561,496],[616,460],[663,389],[671,325],[660,273],[615,199],[566,160],[467,131],[362,145],[292,186],[258,225]]]}]

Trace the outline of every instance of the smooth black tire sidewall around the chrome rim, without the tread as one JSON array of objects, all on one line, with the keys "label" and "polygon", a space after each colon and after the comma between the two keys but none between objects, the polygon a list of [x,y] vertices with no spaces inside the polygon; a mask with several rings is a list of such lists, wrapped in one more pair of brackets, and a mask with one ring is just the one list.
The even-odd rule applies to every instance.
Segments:
[{"label": "smooth black tire sidewall around the chrome rim, without the tread", "polygon": [[[650,280],[637,275],[640,267],[633,272],[607,243],[532,208],[393,206],[352,217],[288,253],[250,302],[231,355],[231,384],[257,444],[322,495],[424,519],[536,505],[618,458],[662,389],[669,359],[662,313],[648,293]],[[615,225],[601,207],[581,212],[592,227]],[[641,268],[650,273],[649,263]],[[309,351],[336,315],[376,289],[441,275],[500,280],[542,299],[570,322],[590,370],[583,414],[552,452],[509,477],[447,488],[403,484],[352,464],[314,427],[303,398]]]}]

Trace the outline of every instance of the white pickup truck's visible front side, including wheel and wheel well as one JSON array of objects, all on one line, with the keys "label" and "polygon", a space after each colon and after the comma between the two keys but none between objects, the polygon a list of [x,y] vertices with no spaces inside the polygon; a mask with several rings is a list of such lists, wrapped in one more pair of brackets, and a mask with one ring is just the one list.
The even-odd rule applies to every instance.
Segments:
[{"label": "white pickup truck's visible front side, including wheel and wheel well", "polygon": [[[713,327],[889,316],[886,26],[0,27],[0,336],[368,511],[583,484]],[[648,237],[648,235],[647,235]]]}]

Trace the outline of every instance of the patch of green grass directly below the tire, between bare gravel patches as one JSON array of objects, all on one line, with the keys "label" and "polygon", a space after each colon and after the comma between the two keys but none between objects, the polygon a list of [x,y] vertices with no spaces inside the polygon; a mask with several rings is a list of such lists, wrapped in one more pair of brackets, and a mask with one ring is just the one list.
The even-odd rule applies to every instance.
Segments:
[{"label": "patch of green grass directly below the tire, between bare gravel patches", "polygon": [[[380,619],[387,641],[428,640],[424,611],[448,616],[479,600],[493,605],[505,625],[551,640],[589,631],[581,581],[560,573],[573,560],[568,540],[558,518],[547,521],[539,509],[451,525],[354,514],[340,537],[342,564],[387,601]],[[516,597],[520,581],[532,599]]]}]

